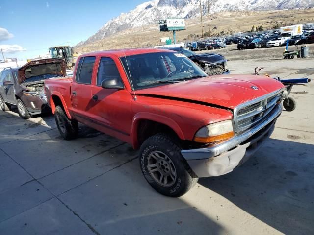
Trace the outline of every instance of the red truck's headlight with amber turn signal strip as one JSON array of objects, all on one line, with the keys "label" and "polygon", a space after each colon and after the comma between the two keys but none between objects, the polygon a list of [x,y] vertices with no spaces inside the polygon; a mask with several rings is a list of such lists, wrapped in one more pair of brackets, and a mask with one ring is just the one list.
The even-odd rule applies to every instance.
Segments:
[{"label": "red truck's headlight with amber turn signal strip", "polygon": [[231,120],[216,122],[199,129],[194,141],[200,143],[210,143],[229,139],[235,135]]}]

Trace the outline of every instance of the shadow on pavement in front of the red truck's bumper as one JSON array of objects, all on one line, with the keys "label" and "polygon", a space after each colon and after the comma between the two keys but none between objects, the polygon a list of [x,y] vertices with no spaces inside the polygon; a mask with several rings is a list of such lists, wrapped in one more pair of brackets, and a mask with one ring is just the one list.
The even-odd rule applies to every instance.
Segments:
[{"label": "shadow on pavement in front of the red truck's bumper", "polygon": [[199,183],[284,234],[314,231],[314,145],[271,139],[235,171]]}]

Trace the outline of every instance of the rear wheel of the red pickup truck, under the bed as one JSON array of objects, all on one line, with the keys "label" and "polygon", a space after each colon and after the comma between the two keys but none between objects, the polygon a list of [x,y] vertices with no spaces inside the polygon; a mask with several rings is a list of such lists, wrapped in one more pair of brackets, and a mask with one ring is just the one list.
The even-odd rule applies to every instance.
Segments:
[{"label": "rear wheel of the red pickup truck, under the bed", "polygon": [[70,120],[61,106],[57,106],[54,112],[55,123],[64,140],[72,140],[78,136],[78,122]]}]

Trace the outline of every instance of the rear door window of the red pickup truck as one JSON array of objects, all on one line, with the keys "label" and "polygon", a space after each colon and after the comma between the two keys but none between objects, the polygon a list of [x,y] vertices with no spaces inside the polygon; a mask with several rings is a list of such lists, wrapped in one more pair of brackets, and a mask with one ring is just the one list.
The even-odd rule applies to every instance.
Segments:
[{"label": "rear door window of the red pickup truck", "polygon": [[[81,63],[81,60],[82,60],[82,63]],[[75,79],[78,83],[84,83],[84,84],[92,83],[92,73],[93,73],[94,63],[95,63],[95,56],[87,56],[80,59],[78,63],[78,70],[75,76]]]}]

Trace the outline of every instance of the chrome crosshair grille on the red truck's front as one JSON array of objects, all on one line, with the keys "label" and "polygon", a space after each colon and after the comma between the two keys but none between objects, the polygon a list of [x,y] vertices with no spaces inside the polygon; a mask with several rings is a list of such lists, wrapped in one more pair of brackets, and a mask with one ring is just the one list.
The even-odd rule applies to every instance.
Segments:
[{"label": "chrome crosshair grille on the red truck's front", "polygon": [[271,93],[235,108],[235,132],[243,132],[270,115],[282,95],[282,90]]}]

